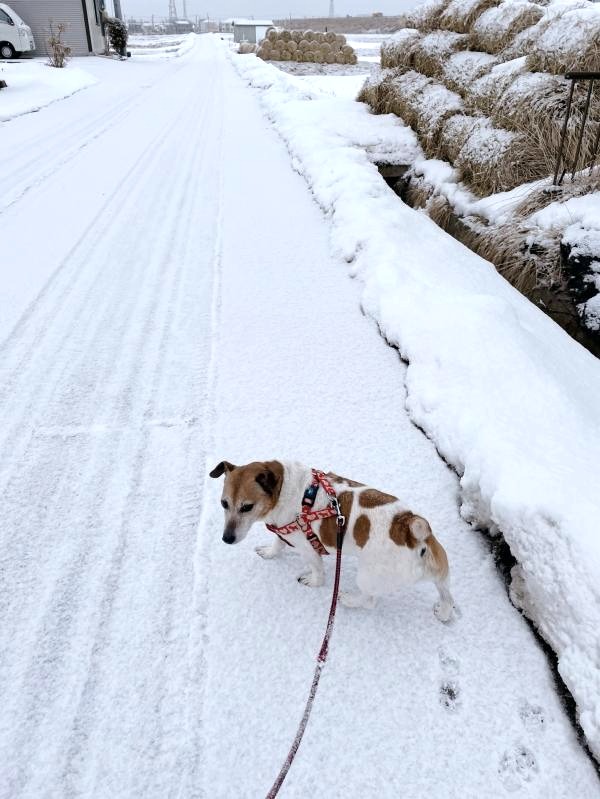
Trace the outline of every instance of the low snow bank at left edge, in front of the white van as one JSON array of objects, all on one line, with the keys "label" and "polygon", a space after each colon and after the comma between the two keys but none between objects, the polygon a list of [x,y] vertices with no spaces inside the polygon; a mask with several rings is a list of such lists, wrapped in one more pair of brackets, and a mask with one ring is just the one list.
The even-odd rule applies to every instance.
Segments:
[{"label": "low snow bank at left edge, in front of the white van", "polygon": [[14,61],[0,65],[0,79],[8,84],[0,94],[0,122],[39,111],[97,83],[96,78],[69,62],[63,69],[43,61]]}]

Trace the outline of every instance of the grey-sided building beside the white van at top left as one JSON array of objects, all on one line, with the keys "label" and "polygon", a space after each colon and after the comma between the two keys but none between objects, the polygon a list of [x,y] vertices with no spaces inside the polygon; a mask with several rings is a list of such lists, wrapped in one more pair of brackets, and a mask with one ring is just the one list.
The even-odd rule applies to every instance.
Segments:
[{"label": "grey-sided building beside the white van at top left", "polygon": [[36,44],[36,55],[46,54],[50,21],[54,28],[59,22],[67,26],[63,41],[72,55],[89,55],[104,50],[101,9],[104,0],[9,0],[31,30]]}]

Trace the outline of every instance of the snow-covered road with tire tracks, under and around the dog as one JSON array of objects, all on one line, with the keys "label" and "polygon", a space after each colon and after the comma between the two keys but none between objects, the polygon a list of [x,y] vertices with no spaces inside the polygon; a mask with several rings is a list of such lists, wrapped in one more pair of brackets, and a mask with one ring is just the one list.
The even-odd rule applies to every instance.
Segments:
[{"label": "snow-covered road with tire tracks, under and around the dog", "polygon": [[132,69],[101,64],[98,86],[0,129],[0,241],[19,253],[1,267],[0,797],[266,793],[329,583],[260,561],[266,532],[221,543],[207,471],[263,457],[406,498],[460,606],[440,625],[423,586],[341,609],[281,795],[599,796],[253,93],[208,37],[110,66]]}]

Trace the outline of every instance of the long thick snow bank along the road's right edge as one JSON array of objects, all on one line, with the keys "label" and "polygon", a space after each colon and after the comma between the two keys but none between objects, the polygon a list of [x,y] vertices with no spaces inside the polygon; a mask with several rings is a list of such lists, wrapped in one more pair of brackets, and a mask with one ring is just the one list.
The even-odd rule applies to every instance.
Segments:
[{"label": "long thick snow bank along the road's right edge", "polygon": [[600,364],[388,189],[364,142],[414,147],[397,121],[233,60],[268,90],[264,108],[364,284],[365,311],[409,361],[409,412],[459,473],[464,517],[510,545],[514,600],[556,651],[600,756]]}]

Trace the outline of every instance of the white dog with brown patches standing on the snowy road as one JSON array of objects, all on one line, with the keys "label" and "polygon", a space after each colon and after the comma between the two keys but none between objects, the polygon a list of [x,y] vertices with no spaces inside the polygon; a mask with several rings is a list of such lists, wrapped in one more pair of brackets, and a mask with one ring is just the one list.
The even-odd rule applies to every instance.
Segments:
[{"label": "white dog with brown patches standing on the snowy road", "polygon": [[[234,466],[219,463],[211,477],[225,475],[221,505],[225,510],[223,541],[242,541],[254,522],[283,527],[297,518],[308,486],[313,482],[310,468],[294,462],[267,461]],[[434,613],[440,621],[452,616],[454,602],[448,583],[448,558],[431,532],[429,523],[409,511],[396,497],[361,483],[327,474],[337,493],[345,517],[343,552],[358,557],[358,593],[341,593],[340,600],[349,607],[373,607],[375,597],[418,580],[431,580],[439,592]],[[324,509],[330,497],[319,485],[313,510]],[[337,521],[334,516],[312,522],[313,531],[327,552],[335,552]],[[298,580],[318,586],[324,581],[321,555],[306,535],[298,530],[285,536],[309,567]],[[285,549],[285,542],[273,535],[269,546],[256,551],[263,558],[275,558]]]}]

